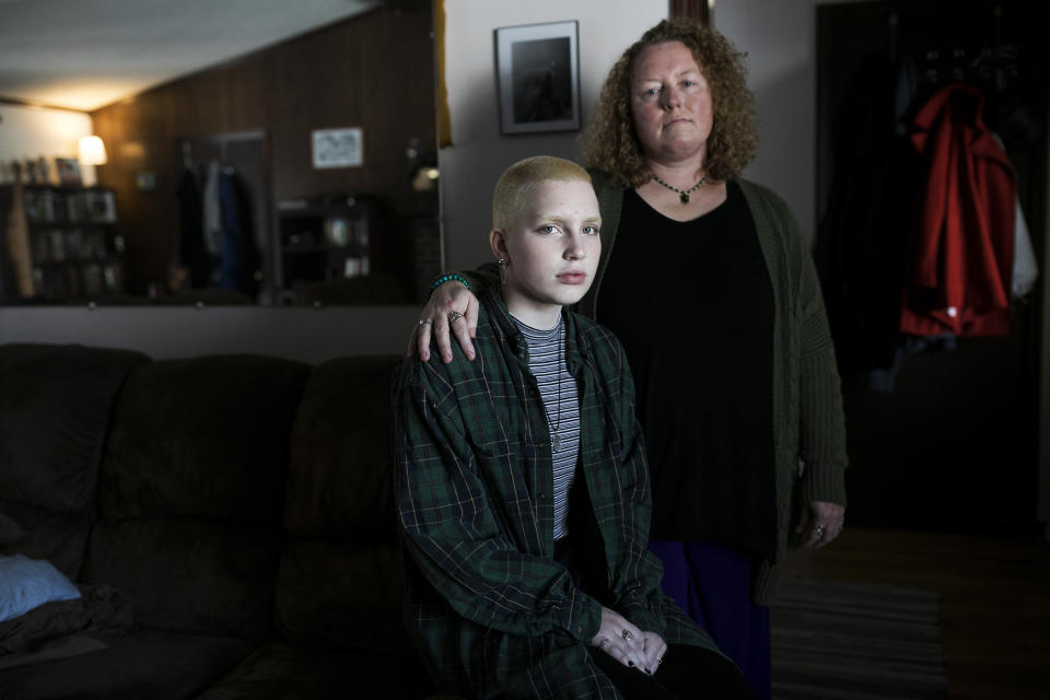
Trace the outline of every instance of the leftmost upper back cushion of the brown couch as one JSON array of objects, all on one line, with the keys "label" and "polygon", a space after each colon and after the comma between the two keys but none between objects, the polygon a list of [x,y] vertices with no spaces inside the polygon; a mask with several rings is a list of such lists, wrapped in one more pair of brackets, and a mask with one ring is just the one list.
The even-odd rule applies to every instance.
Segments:
[{"label": "leftmost upper back cushion of the brown couch", "polygon": [[128,372],[147,362],[127,350],[0,346],[3,500],[67,513],[93,506],[114,398]]}]

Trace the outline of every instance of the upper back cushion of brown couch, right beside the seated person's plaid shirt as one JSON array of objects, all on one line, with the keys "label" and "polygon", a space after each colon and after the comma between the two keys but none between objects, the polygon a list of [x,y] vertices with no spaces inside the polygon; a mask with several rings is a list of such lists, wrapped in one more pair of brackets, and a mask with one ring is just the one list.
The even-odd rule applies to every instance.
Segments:
[{"label": "upper back cushion of brown couch, right beside the seated person's plaid shirt", "polygon": [[398,360],[339,358],[317,366],[292,433],[290,535],[394,540],[389,392]]}]

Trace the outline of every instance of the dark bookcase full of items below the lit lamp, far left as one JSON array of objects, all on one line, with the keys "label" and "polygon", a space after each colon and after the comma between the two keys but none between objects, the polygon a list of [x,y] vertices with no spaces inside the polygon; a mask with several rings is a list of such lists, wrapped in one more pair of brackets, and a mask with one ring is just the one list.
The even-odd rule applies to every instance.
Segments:
[{"label": "dark bookcase full of items below the lit lamp, far left", "polygon": [[105,187],[5,186],[4,300],[70,301],[124,290],[116,197]]}]

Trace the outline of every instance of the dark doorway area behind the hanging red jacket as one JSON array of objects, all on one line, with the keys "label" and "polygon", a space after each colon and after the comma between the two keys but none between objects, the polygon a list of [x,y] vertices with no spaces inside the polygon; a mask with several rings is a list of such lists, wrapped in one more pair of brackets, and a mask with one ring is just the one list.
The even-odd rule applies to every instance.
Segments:
[{"label": "dark doorway area behind the hanging red jacket", "polygon": [[980,91],[1035,259],[1046,259],[1046,3],[1017,0],[817,9],[815,255],[843,381],[853,525],[1037,532],[1047,270],[1012,300],[1008,334],[914,338],[898,324],[926,184],[908,120],[946,85]]}]

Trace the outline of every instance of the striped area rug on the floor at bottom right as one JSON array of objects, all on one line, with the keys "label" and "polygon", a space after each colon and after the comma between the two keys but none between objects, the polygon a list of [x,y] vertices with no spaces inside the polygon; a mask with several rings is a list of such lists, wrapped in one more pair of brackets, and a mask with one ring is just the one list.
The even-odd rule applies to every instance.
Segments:
[{"label": "striped area rug on the floor at bottom right", "polygon": [[935,591],[789,578],[771,608],[773,700],[941,699]]}]

